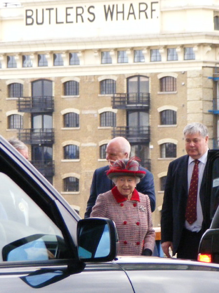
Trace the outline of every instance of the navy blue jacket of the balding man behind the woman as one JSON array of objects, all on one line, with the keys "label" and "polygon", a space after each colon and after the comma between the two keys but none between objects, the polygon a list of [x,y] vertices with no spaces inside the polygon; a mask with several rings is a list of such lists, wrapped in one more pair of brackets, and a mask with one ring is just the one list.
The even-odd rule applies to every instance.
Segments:
[{"label": "navy blue jacket of the balding man behind the woman", "polygon": [[[137,184],[136,189],[147,194],[150,199],[151,211],[154,211],[156,204],[155,190],[154,190],[154,178],[150,171],[143,167],[139,168],[141,171],[146,171],[145,177],[141,179],[139,184]],[[107,177],[107,171],[109,166],[100,167],[96,169],[93,173],[93,179],[91,183],[90,197],[87,203],[87,209],[85,212],[85,218],[90,217],[92,207],[95,205],[96,198],[100,193],[107,192],[112,189],[112,181]]]}]

